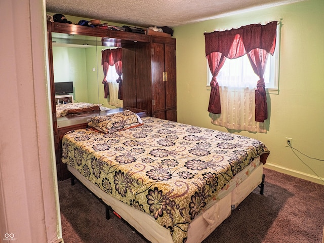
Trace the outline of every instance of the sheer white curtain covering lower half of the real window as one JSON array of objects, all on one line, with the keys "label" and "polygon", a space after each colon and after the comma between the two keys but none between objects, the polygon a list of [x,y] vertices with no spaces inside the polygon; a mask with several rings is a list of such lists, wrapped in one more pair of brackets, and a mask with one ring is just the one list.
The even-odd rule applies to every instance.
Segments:
[{"label": "sheer white curtain covering lower half of the real window", "polygon": [[212,114],[212,123],[227,129],[266,133],[264,123],[255,121],[254,88],[219,88],[221,114]]}]

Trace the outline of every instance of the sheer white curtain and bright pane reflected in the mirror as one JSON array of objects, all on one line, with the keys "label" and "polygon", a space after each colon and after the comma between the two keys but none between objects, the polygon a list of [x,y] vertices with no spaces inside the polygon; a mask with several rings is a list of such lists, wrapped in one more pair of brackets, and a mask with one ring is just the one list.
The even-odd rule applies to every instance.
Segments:
[{"label": "sheer white curtain and bright pane reflected in the mirror", "polygon": [[109,105],[116,106],[117,108],[119,107],[124,107],[124,102],[123,100],[118,99],[118,89],[119,89],[119,84],[116,82],[116,79],[118,78],[118,74],[116,72],[116,69],[114,66],[109,67],[108,69],[108,74],[107,74],[107,82],[108,82],[108,87],[109,87],[109,100],[108,103]]}]

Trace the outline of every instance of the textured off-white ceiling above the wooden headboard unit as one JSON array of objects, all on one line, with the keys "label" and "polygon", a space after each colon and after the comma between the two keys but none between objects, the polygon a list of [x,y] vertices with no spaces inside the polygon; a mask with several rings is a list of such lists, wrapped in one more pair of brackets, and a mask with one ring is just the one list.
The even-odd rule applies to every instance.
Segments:
[{"label": "textured off-white ceiling above the wooden headboard unit", "polygon": [[302,0],[46,0],[46,10],[140,27],[174,27],[299,1]]}]

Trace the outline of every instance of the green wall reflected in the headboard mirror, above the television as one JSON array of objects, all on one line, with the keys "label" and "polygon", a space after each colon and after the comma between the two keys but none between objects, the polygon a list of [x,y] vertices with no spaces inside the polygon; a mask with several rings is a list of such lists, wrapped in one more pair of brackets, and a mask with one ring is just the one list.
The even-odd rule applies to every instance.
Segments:
[{"label": "green wall reflected in the headboard mirror, above the television", "polygon": [[73,82],[75,102],[116,108],[104,98],[101,66],[101,51],[104,49],[107,47],[53,47],[54,80]]}]

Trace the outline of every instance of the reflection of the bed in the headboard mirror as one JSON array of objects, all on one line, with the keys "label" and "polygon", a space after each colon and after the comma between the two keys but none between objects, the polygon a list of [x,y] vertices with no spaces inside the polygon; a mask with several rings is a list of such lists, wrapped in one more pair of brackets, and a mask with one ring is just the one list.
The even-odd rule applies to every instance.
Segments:
[{"label": "reflection of the bed in the headboard mirror", "polygon": [[109,108],[99,104],[85,102],[58,104],[56,105],[56,117],[63,117],[67,115],[101,111],[107,109]]}]

